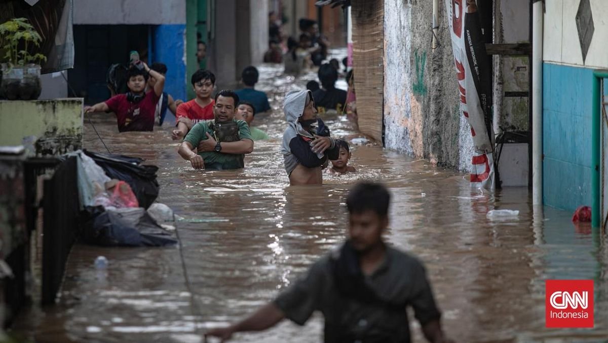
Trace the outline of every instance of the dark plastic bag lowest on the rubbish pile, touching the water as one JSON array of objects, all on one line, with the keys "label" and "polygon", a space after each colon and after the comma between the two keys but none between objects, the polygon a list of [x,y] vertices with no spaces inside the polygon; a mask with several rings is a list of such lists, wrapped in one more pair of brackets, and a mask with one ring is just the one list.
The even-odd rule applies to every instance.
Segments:
[{"label": "dark plastic bag lowest on the rubbish pile, touching the water", "polygon": [[143,208],[88,208],[82,239],[97,246],[168,246],[177,240]]}]

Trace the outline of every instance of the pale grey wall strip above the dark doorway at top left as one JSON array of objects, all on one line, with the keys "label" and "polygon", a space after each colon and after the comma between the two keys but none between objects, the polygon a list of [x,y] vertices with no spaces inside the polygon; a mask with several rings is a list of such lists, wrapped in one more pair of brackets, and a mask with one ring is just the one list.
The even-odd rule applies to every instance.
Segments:
[{"label": "pale grey wall strip above the dark doorway at top left", "polygon": [[185,23],[185,0],[74,0],[74,25]]}]

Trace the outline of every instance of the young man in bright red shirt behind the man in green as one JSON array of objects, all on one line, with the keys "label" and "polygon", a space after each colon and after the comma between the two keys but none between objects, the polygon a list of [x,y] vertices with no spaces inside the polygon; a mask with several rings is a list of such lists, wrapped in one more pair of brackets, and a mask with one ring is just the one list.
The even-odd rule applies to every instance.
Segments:
[{"label": "young man in bright red shirt behind the man in green", "polygon": [[190,82],[192,82],[196,97],[178,106],[178,113],[175,115],[177,129],[171,132],[173,140],[183,140],[186,133],[197,122],[215,118],[213,116],[215,101],[211,97],[213,86],[215,86],[215,75],[213,75],[213,72],[206,69],[198,69],[192,75]]}]

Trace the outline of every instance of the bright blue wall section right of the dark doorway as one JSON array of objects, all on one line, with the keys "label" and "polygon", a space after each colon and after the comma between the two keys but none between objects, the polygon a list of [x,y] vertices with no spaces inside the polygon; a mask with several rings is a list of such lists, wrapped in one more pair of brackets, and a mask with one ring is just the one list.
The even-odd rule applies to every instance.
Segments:
[{"label": "bright blue wall section right of the dark doorway", "polygon": [[153,60],[167,65],[165,91],[174,99],[186,99],[184,24],[159,25],[153,30]]}]

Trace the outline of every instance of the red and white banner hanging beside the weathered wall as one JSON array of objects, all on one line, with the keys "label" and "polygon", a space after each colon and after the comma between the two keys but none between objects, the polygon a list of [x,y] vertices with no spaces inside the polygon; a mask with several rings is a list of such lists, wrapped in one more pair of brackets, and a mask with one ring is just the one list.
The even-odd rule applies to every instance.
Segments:
[{"label": "red and white banner hanging beside the weathered wall", "polygon": [[475,0],[445,0],[460,90],[460,109],[471,126],[475,152],[471,186],[494,191],[492,79]]}]

